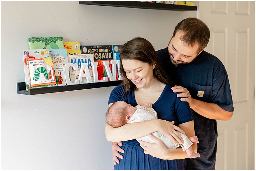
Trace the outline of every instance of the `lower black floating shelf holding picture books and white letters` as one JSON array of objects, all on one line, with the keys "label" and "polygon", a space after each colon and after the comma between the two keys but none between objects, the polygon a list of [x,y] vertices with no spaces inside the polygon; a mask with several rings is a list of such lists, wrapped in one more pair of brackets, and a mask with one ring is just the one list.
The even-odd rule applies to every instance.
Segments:
[{"label": "lower black floating shelf holding picture books and white letters", "polygon": [[100,88],[100,87],[111,87],[121,84],[120,81],[106,81],[99,83],[88,83],[88,84],[77,84],[77,85],[63,85],[55,87],[43,87],[43,88],[33,88],[26,91],[25,82],[17,83],[17,93],[26,94],[26,95],[35,95],[35,94],[46,94],[46,93],[57,93],[57,92],[67,92],[73,90],[84,90],[91,88]]}]

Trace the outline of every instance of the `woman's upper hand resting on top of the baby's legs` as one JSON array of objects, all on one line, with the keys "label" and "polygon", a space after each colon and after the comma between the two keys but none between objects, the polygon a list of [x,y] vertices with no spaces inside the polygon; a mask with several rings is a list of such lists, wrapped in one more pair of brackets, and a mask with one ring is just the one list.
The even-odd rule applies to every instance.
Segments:
[{"label": "woman's upper hand resting on top of the baby's legs", "polygon": [[163,134],[165,137],[169,138],[174,144],[178,144],[178,142],[180,144],[184,143],[183,139],[181,138],[180,134],[177,131],[179,131],[182,134],[185,134],[185,132],[181,130],[178,126],[173,125],[174,121],[168,122],[161,119],[157,120],[159,123],[158,132],[160,134]]}]

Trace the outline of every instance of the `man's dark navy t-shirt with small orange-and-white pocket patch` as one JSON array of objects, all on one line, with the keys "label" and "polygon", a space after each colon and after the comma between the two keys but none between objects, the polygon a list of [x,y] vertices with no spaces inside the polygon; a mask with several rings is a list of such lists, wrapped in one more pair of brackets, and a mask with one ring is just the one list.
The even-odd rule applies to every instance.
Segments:
[{"label": "man's dark navy t-shirt with small orange-and-white pocket patch", "polygon": [[[228,74],[216,56],[203,50],[191,63],[175,66],[170,62],[167,48],[156,53],[173,83],[187,88],[193,99],[215,103],[229,112],[234,111]],[[193,110],[192,113],[200,157],[185,159],[186,170],[213,170],[217,151],[217,122]]]}]

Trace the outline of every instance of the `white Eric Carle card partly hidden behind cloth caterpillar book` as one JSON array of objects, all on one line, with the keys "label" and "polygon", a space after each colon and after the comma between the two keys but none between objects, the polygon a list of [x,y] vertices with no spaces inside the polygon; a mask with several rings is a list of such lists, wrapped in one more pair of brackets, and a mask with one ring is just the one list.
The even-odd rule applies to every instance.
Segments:
[{"label": "white Eric Carle card partly hidden behind cloth caterpillar book", "polygon": [[[27,65],[27,58],[31,59],[40,59],[49,56],[48,49],[37,49],[37,50],[23,50],[23,65],[24,65],[24,73],[25,73],[25,83],[26,83],[26,90],[28,91],[29,86],[29,78],[28,78],[28,65]],[[52,85],[40,85],[31,88],[41,88],[41,87],[48,87]]]}]

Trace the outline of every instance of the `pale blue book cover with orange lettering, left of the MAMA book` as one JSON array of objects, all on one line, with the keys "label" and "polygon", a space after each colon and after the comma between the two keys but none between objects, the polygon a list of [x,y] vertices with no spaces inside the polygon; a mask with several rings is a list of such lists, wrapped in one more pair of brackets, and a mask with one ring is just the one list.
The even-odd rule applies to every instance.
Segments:
[{"label": "pale blue book cover with orange lettering, left of the MAMA book", "polygon": [[49,56],[52,58],[52,63],[68,63],[67,49],[50,49]]}]

